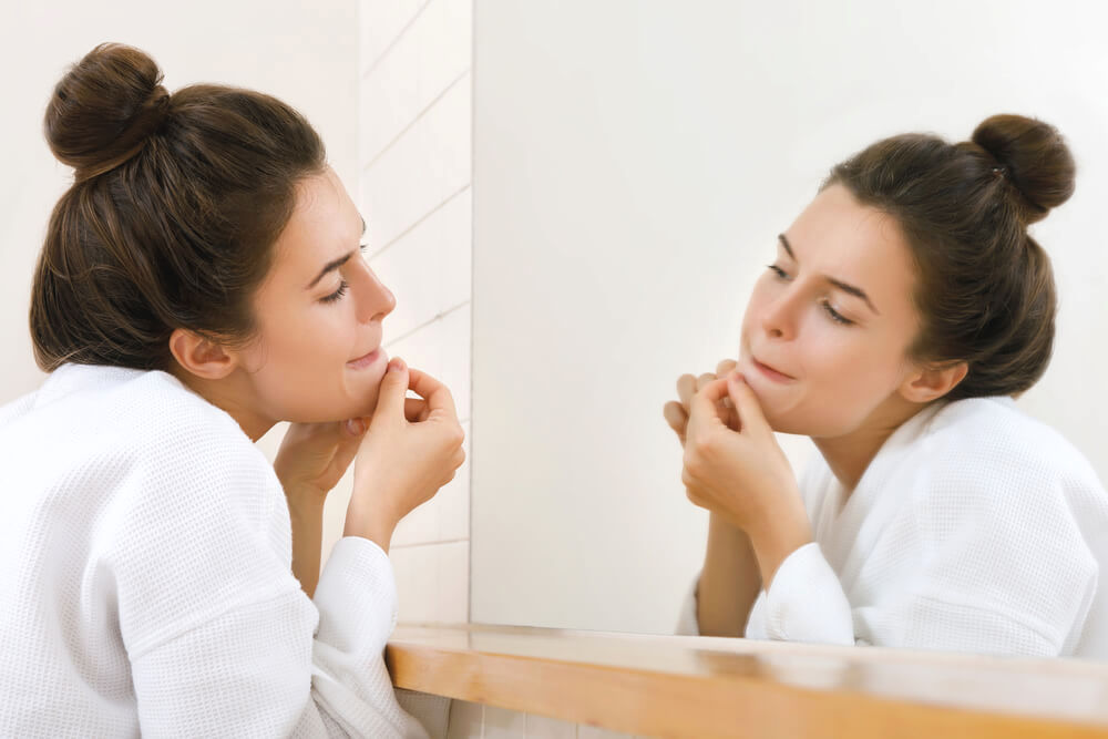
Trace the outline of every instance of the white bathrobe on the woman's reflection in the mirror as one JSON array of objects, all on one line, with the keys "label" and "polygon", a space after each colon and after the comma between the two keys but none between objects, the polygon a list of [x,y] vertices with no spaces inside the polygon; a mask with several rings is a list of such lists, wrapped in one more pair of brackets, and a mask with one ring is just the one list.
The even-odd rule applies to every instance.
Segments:
[{"label": "white bathrobe on the woman's reflection in the mirror", "polygon": [[[800,484],[815,541],[759,594],[748,638],[1108,659],[1108,494],[1014,401],[917,413],[844,505],[815,458]],[[695,593],[679,633],[698,633]]]}]

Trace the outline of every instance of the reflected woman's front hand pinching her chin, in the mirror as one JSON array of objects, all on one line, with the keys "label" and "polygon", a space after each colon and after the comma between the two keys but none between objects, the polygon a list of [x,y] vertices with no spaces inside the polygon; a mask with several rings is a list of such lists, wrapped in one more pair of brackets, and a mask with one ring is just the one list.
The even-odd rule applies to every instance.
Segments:
[{"label": "reflected woman's front hand pinching her chin, in the mirror", "polygon": [[[724,398],[738,415],[737,431],[720,415]],[[767,588],[781,562],[812,541],[792,466],[738,372],[693,397],[681,481],[693,503],[747,532]]]}]

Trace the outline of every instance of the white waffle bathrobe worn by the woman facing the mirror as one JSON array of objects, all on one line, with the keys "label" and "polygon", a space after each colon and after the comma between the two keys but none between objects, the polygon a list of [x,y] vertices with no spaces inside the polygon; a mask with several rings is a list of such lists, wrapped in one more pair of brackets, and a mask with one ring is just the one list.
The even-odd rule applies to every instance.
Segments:
[{"label": "white waffle bathrobe worn by the woman facing the mirror", "polygon": [[0,409],[0,736],[425,736],[388,556],[342,538],[309,599],[273,466],[172,376],[61,367]]}]

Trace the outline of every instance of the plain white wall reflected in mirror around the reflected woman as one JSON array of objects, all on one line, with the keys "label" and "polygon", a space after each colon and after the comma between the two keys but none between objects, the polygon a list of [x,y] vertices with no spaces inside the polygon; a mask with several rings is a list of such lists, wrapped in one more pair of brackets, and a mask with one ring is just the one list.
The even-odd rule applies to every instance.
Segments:
[{"label": "plain white wall reflected in mirror around the reflected woman", "polygon": [[706,515],[661,407],[735,355],[828,168],[892,133],[1019,112],[1068,137],[1077,194],[1035,228],[1057,349],[1020,403],[1108,480],[1106,27],[1029,0],[479,2],[472,620],[674,627]]}]

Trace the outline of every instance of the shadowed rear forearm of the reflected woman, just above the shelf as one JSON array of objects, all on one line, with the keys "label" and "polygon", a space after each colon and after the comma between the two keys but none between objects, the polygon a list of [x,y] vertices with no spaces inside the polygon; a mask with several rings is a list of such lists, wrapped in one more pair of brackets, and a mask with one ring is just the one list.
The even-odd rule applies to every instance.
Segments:
[{"label": "shadowed rear forearm of the reflected woman, just above the shelf", "polygon": [[750,537],[712,513],[697,589],[697,622],[704,636],[742,636],[761,589]]}]

